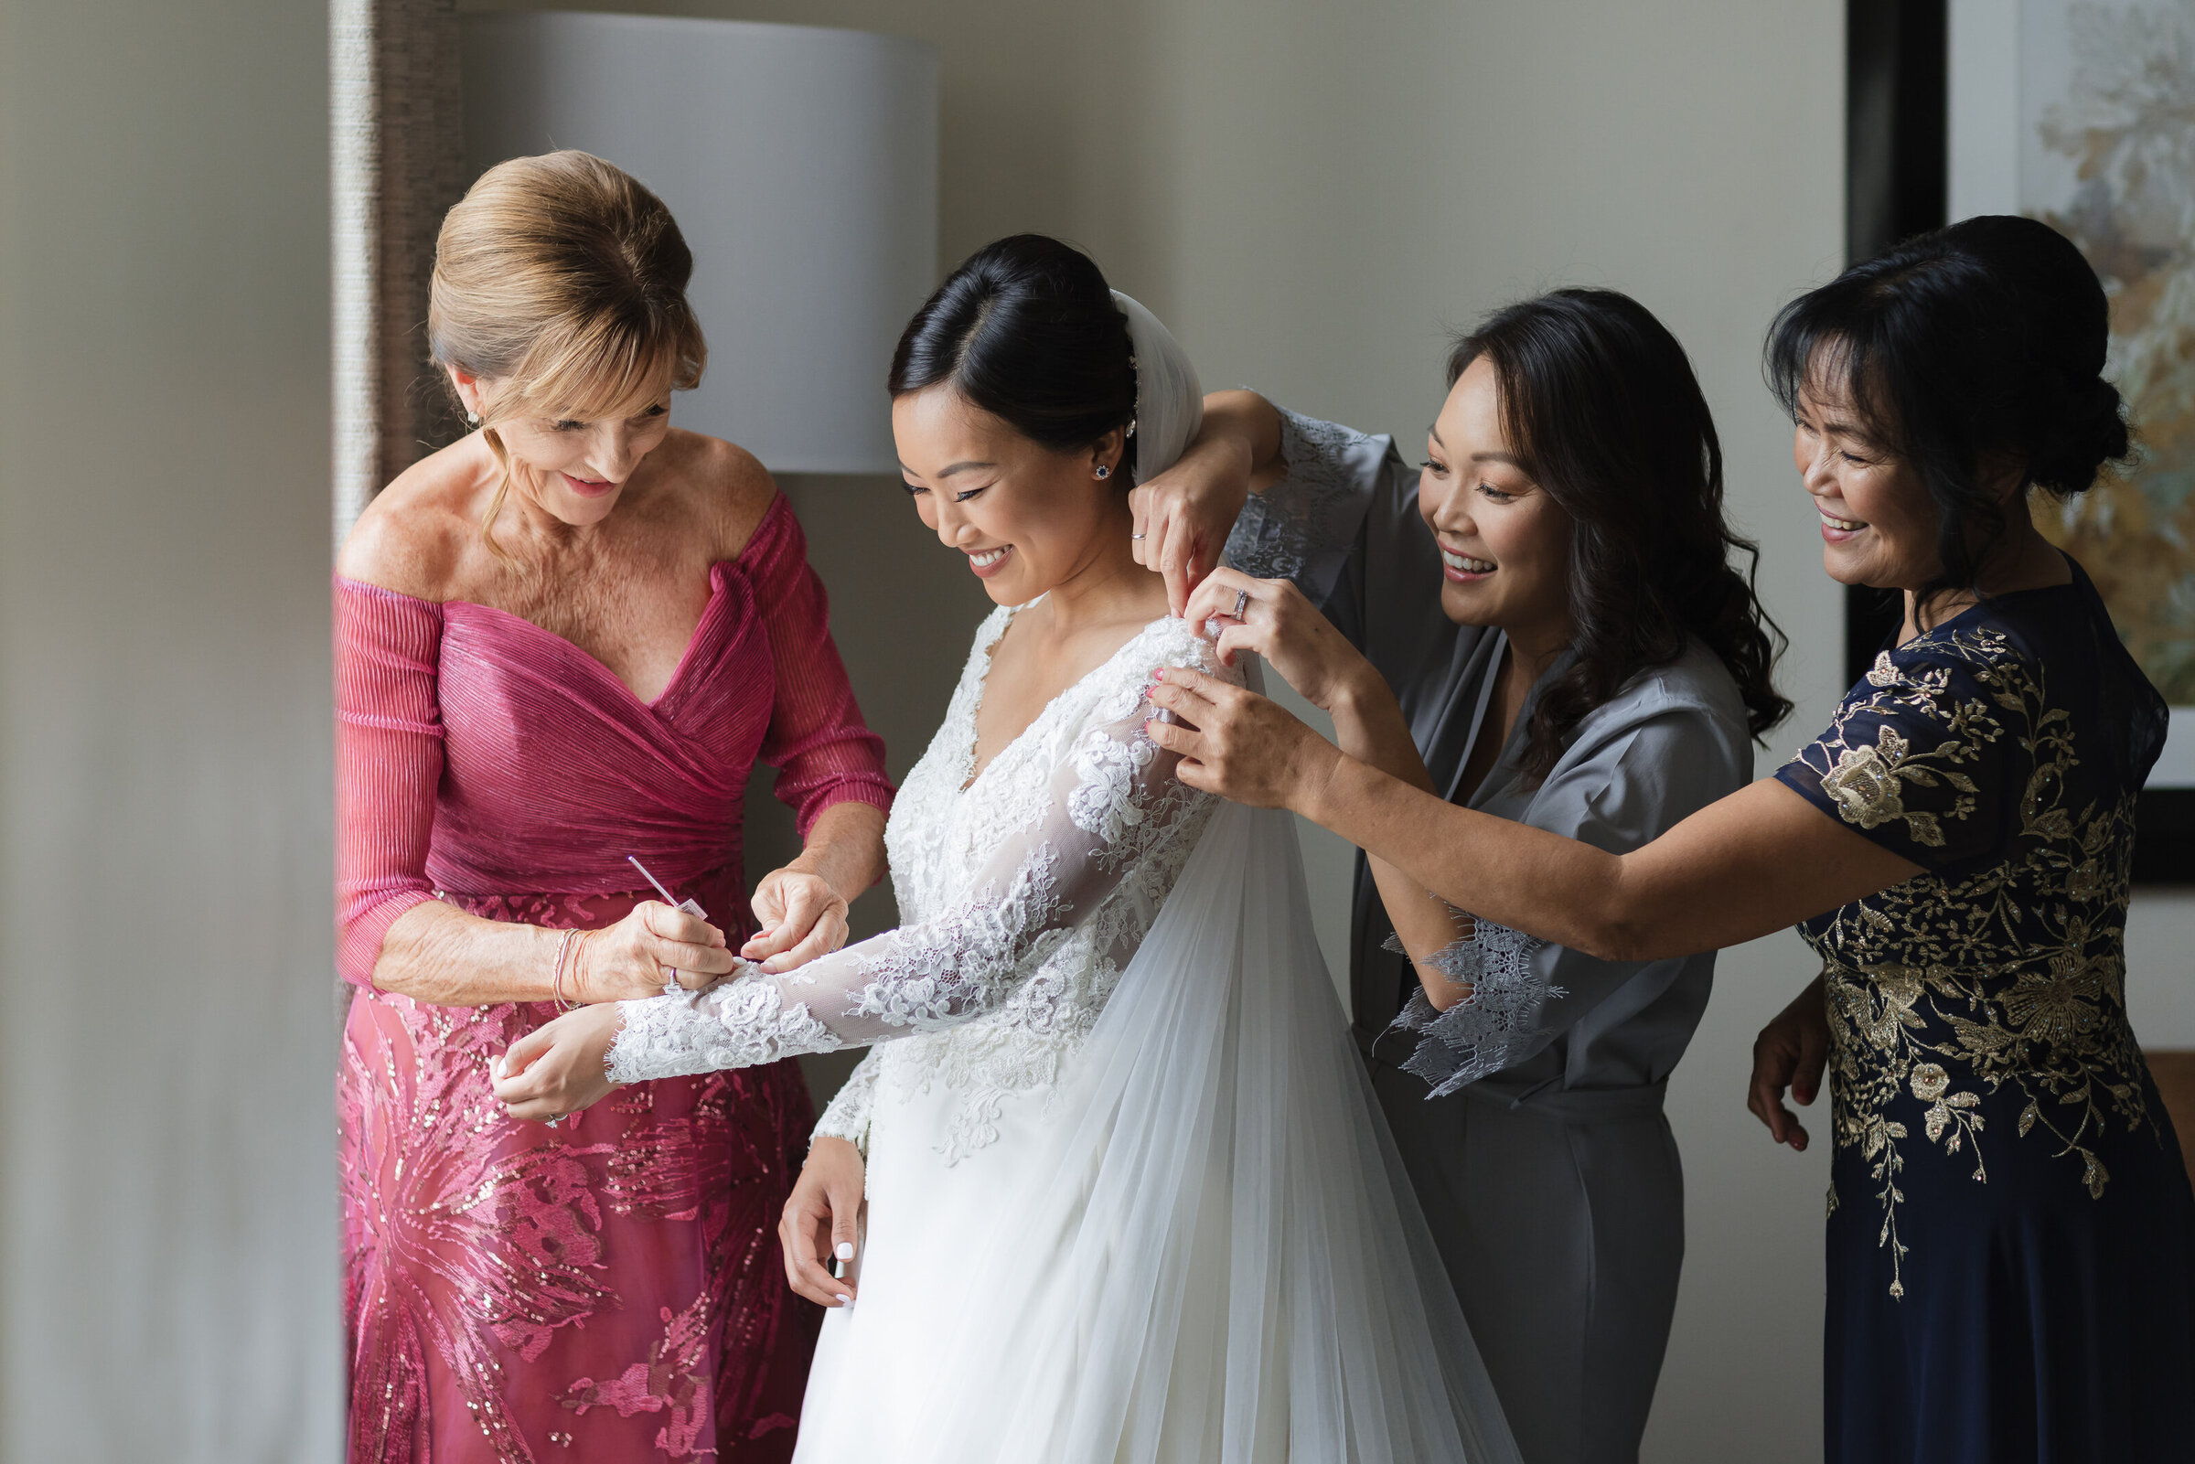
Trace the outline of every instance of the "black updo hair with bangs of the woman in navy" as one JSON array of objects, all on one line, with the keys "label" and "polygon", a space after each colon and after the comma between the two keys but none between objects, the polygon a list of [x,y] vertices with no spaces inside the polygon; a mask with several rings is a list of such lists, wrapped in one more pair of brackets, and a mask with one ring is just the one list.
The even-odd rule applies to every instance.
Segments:
[{"label": "black updo hair with bangs of the woman in navy", "polygon": [[2022,492],[2063,496],[2127,457],[2125,404],[2103,380],[2109,327],[2103,283],[2065,235],[1980,215],[1785,305],[1767,378],[1793,415],[1809,382],[1842,386],[1868,437],[1918,474],[1943,562],[1925,601],[1973,590],[2004,533],[1980,483],[1984,459],[2024,463]]}]

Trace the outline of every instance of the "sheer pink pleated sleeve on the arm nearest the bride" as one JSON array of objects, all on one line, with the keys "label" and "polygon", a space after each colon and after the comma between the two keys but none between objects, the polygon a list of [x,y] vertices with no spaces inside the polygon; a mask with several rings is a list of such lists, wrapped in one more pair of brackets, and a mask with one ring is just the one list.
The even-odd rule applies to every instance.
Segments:
[{"label": "sheer pink pleated sleeve on the arm nearest the bride", "polygon": [[885,740],[854,705],[845,663],[830,639],[830,599],[808,566],[808,538],[779,500],[768,536],[748,558],[755,606],[770,639],[777,700],[762,740],[762,762],[777,768],[777,799],[792,810],[801,838],[832,803],[891,810]]}]

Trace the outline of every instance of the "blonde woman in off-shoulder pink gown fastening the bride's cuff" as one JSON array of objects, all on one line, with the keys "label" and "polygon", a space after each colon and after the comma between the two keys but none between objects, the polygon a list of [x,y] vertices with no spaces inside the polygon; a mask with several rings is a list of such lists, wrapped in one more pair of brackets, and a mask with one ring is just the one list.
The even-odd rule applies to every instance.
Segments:
[{"label": "blonde woman in off-shoulder pink gown fastening the bride's cuff", "polygon": [[[689,268],[595,158],[483,176],[443,226],[430,334],[485,426],[384,489],[338,564],[360,1464],[792,1451],[819,1319],[775,1242],[799,1069],[641,1084],[555,1128],[489,1093],[560,999],[698,986],[742,944],[790,968],[882,869],[882,744],[801,529],[753,459],[665,421],[700,373]],[[806,852],[751,909],[757,759]]]}]

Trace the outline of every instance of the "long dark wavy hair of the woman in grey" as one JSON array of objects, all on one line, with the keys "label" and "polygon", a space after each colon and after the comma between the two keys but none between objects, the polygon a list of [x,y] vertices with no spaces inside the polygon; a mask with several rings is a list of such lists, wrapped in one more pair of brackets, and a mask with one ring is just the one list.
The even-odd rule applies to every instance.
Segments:
[{"label": "long dark wavy hair of the woman in grey", "polygon": [[1677,338],[1629,294],[1556,290],[1457,338],[1449,384],[1482,358],[1510,448],[1572,520],[1578,654],[1532,709],[1523,773],[1547,777],[1578,722],[1690,637],[1730,667],[1754,737],[1782,722],[1782,634],[1754,595],[1760,551],[1723,516],[1723,446]]}]

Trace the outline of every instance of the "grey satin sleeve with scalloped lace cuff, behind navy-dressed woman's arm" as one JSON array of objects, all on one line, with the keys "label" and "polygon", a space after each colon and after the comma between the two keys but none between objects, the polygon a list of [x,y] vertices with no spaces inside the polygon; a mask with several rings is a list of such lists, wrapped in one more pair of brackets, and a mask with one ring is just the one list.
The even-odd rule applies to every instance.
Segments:
[{"label": "grey satin sleeve with scalloped lace cuff, behind navy-dressed woman's arm", "polygon": [[[1675,707],[1624,718],[1574,744],[1523,823],[1626,854],[1741,781],[1727,731],[1701,707]],[[1468,913],[1457,920],[1468,933],[1431,964],[1468,983],[1471,996],[1438,1012],[1418,990],[1394,1018],[1394,1032],[1416,1036],[1400,1067],[1425,1078],[1433,1097],[1528,1062],[1618,992],[1631,1010],[1644,1007],[1666,981],[1642,990],[1635,977],[1662,966],[1673,979],[1684,964],[1602,961]]]}]

